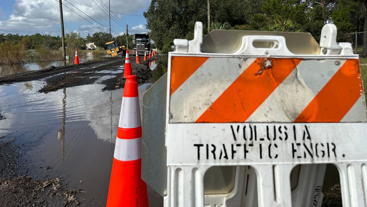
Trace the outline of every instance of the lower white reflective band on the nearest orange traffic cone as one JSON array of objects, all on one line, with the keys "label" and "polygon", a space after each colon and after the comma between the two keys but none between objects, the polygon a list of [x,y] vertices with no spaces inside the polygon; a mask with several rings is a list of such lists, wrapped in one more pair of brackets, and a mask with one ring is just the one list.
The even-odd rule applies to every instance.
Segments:
[{"label": "lower white reflective band on the nearest orange traffic cone", "polygon": [[141,158],[141,137],[136,139],[116,138],[115,153],[116,160],[133,161]]}]

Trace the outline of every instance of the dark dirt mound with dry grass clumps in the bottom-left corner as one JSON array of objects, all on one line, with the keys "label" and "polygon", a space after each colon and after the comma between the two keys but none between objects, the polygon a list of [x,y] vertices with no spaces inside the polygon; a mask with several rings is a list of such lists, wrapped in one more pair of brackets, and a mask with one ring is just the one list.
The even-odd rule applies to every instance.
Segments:
[{"label": "dark dirt mound with dry grass clumps in the bottom-left corner", "polygon": [[0,180],[0,206],[77,206],[74,195],[81,190],[67,190],[61,179],[32,181],[31,177]]}]

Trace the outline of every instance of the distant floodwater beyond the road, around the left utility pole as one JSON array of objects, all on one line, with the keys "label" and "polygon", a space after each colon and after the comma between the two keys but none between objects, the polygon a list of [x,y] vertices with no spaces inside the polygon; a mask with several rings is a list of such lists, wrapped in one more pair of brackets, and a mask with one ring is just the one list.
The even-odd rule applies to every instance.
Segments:
[{"label": "distant floodwater beyond the road, around the left utility pole", "polygon": [[[32,58],[33,57],[33,58]],[[83,63],[88,60],[101,60],[104,56],[95,57],[92,55],[91,51],[87,51],[86,55],[79,57],[79,63]],[[42,62],[34,62],[36,58],[34,56],[30,56],[29,62],[26,64],[13,64],[13,65],[0,65],[0,77],[14,74],[17,72],[23,71],[33,71],[39,69],[45,69],[51,67],[52,65],[57,66],[64,66],[64,65],[72,65],[74,60],[66,60],[65,61],[42,61]]]}]

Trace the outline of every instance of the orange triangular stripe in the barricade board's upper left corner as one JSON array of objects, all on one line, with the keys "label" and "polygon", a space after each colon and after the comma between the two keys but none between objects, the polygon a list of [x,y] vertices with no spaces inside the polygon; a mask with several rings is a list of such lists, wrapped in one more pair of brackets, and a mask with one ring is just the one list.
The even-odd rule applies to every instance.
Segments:
[{"label": "orange triangular stripe in the barricade board's upper left corner", "polygon": [[171,84],[172,95],[209,57],[182,57],[174,56],[171,60]]}]

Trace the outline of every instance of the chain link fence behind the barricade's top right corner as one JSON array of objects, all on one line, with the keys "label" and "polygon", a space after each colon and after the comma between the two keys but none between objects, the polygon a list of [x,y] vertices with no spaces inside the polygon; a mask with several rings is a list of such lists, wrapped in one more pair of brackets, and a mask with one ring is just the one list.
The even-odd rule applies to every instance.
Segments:
[{"label": "chain link fence behind the barricade's top right corner", "polygon": [[[338,34],[337,42],[350,42],[355,54],[362,54],[363,51],[363,36],[367,32],[354,32],[347,34]],[[314,37],[317,43],[320,43],[320,37]]]}]

